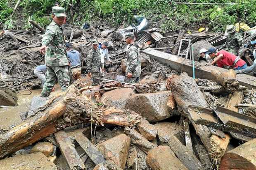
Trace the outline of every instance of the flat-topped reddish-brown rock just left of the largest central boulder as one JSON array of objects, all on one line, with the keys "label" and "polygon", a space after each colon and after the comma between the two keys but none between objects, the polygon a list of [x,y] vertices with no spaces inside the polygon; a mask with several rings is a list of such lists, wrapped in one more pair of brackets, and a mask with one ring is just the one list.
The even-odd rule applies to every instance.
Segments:
[{"label": "flat-topped reddish-brown rock just left of the largest central boulder", "polygon": [[133,89],[115,89],[105,92],[100,102],[105,106],[114,106],[119,109],[124,109],[127,99],[133,94],[135,94]]}]

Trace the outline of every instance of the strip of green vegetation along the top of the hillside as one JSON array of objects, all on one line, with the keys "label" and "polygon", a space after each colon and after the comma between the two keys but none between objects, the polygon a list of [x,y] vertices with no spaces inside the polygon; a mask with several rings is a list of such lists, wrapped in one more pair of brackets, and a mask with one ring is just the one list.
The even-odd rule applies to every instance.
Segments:
[{"label": "strip of green vegetation along the top of the hillside", "polygon": [[[169,2],[171,1],[171,2]],[[0,24],[9,29],[21,26],[17,20],[23,20],[27,26],[28,17],[42,26],[50,23],[51,7],[55,0],[22,0],[19,15],[12,14],[15,2],[0,0]],[[150,19],[150,24],[166,32],[199,28],[207,24],[215,32],[223,31],[225,25],[237,22],[255,26],[255,0],[59,0],[68,12],[68,22],[82,25],[85,22],[97,23],[99,18],[110,26],[121,23],[133,23],[133,15],[143,15]],[[178,4],[174,2],[212,3],[212,4]],[[214,3],[228,3],[213,5]],[[233,4],[236,3],[236,4]],[[18,16],[18,17],[17,17]],[[11,20],[12,19],[12,20]],[[2,27],[2,26],[1,26]]]}]

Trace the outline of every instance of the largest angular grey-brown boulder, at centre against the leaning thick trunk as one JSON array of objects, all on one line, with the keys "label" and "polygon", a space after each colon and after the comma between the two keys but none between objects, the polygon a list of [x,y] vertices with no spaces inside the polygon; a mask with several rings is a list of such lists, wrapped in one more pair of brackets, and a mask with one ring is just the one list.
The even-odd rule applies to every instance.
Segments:
[{"label": "largest angular grey-brown boulder, at centre against the leaning thick trunk", "polygon": [[149,122],[158,122],[171,117],[167,106],[171,91],[135,94],[126,102],[126,109],[140,113]]}]

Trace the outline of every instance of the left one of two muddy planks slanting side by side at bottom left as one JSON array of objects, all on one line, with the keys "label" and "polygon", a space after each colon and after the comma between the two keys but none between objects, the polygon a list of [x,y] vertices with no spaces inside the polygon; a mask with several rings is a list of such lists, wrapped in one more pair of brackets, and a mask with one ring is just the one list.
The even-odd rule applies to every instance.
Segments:
[{"label": "left one of two muddy planks slanting side by side at bottom left", "polygon": [[62,152],[66,162],[71,170],[85,169],[83,161],[76,152],[76,149],[71,145],[67,134],[64,131],[55,133],[56,141],[59,143],[60,151]]}]

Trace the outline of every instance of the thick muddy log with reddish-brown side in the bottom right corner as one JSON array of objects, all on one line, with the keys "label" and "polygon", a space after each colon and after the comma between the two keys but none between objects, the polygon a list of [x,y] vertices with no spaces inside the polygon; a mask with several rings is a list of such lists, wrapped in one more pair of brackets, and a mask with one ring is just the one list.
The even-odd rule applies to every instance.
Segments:
[{"label": "thick muddy log with reddish-brown side in the bottom right corner", "polygon": [[256,139],[227,152],[221,160],[220,170],[256,170]]}]

